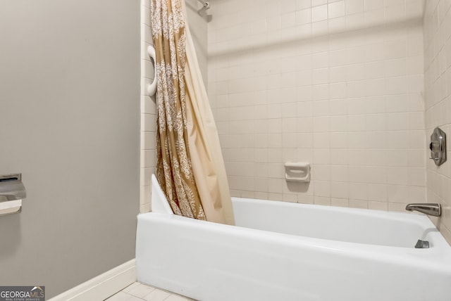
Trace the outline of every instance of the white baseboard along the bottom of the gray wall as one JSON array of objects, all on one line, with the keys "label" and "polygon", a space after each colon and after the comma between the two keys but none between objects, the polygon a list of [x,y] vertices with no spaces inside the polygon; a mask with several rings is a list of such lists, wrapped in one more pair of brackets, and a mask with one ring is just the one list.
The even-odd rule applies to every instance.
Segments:
[{"label": "white baseboard along the bottom of the gray wall", "polygon": [[75,288],[70,288],[49,301],[101,301],[135,281],[136,268],[133,259],[75,286]]}]

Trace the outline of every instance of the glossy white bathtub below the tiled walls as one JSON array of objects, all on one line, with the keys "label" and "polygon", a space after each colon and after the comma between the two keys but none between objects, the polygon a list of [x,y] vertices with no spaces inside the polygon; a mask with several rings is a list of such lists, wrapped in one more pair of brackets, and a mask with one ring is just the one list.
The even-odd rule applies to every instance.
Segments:
[{"label": "glossy white bathtub below the tiled walls", "polygon": [[142,283],[204,301],[451,300],[451,248],[424,215],[233,198],[227,226],[152,198],[160,213],[138,215]]}]

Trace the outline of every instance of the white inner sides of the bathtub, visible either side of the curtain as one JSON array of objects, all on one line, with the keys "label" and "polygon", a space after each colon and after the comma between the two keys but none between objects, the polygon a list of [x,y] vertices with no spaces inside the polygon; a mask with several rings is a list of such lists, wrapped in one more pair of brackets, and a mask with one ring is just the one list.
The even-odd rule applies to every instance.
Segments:
[{"label": "white inner sides of the bathtub, visible either side of the curtain", "polygon": [[[433,248],[438,229],[424,214],[232,198],[235,226],[330,241],[414,248],[419,239]],[[152,212],[173,214],[152,175]]]}]

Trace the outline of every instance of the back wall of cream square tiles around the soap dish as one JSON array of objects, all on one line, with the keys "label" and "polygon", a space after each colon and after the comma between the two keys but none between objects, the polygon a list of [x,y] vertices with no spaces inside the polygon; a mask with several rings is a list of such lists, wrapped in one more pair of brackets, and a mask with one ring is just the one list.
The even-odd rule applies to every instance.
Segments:
[{"label": "back wall of cream square tiles around the soap dish", "polygon": [[[422,11],[421,0],[214,1],[209,97],[233,195],[424,202]],[[311,183],[288,186],[287,161],[311,162]]]}]

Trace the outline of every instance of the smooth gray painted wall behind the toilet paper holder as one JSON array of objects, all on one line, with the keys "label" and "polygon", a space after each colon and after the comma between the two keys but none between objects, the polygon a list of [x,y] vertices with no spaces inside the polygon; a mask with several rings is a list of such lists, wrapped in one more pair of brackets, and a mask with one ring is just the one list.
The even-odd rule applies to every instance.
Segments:
[{"label": "smooth gray painted wall behind the toilet paper holder", "polygon": [[53,297],[135,257],[140,1],[0,0],[0,285]]}]

